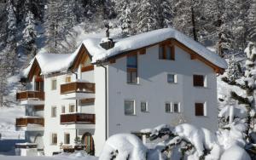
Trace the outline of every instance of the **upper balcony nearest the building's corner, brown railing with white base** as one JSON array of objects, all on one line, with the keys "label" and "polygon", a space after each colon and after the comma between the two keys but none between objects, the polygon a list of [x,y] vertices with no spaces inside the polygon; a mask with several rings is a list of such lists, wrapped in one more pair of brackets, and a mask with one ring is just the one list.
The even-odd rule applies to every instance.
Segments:
[{"label": "upper balcony nearest the building's corner, brown railing with white base", "polygon": [[61,99],[80,100],[95,98],[95,83],[73,82],[61,84]]}]

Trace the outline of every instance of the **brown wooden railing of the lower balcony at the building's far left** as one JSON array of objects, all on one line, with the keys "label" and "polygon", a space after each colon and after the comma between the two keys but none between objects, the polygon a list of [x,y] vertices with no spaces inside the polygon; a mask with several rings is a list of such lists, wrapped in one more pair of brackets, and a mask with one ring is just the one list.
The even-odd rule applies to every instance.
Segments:
[{"label": "brown wooden railing of the lower balcony at the building's far left", "polygon": [[17,127],[26,127],[27,124],[38,124],[44,126],[43,117],[19,117],[16,118]]}]

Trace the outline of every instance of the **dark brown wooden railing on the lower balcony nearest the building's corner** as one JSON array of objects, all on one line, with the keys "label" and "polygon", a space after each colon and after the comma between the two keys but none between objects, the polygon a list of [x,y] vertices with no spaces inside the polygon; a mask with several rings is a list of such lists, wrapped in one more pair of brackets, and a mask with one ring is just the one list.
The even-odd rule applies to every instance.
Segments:
[{"label": "dark brown wooden railing on the lower balcony nearest the building's corner", "polygon": [[61,124],[67,123],[90,123],[95,124],[95,114],[71,113],[61,115]]}]

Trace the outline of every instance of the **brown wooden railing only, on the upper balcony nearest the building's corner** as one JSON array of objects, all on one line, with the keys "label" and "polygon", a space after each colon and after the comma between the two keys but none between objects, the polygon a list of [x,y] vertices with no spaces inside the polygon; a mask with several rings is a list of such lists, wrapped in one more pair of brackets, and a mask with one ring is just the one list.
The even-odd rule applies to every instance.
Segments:
[{"label": "brown wooden railing only, on the upper balcony nearest the building's corner", "polygon": [[95,93],[95,83],[66,83],[61,84],[61,94],[69,93]]}]

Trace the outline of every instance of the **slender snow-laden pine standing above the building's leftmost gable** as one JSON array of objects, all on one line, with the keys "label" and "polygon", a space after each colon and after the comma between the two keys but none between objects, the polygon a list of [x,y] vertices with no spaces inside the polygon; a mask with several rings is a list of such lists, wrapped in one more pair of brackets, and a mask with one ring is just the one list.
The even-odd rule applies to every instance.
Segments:
[{"label": "slender snow-laden pine standing above the building's leftmost gable", "polygon": [[23,31],[23,38],[25,40],[25,48],[29,54],[35,55],[37,46],[36,46],[36,37],[37,31],[35,30],[35,20],[31,11],[28,11],[26,15],[25,29]]}]

